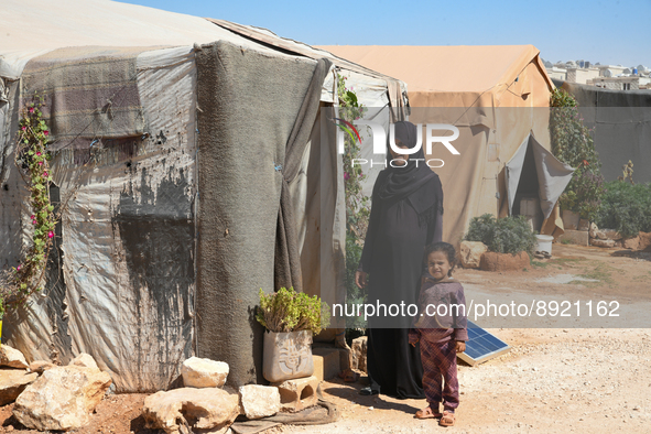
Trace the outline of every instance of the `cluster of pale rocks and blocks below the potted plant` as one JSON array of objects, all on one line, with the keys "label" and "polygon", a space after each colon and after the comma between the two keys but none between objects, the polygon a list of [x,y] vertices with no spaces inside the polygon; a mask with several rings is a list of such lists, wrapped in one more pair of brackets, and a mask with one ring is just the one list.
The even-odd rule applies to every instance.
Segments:
[{"label": "cluster of pale rocks and blocks below the potted plant", "polygon": [[311,376],[271,386],[225,386],[229,367],[223,361],[192,357],[183,362],[184,388],[162,391],[144,400],[148,428],[167,434],[210,430],[226,433],[236,417],[256,420],[280,411],[295,412],[316,404],[318,380]]}]

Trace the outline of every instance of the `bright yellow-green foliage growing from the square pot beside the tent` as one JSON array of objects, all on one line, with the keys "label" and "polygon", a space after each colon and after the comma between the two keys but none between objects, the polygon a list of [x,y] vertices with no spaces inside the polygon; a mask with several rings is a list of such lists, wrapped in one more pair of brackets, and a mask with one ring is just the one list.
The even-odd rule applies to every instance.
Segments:
[{"label": "bright yellow-green foliage growing from the square pot beside the tent", "polygon": [[330,323],[327,303],[316,295],[297,293],[293,287],[281,287],[264,294],[260,289],[260,306],[256,319],[270,332],[312,330],[318,334]]}]

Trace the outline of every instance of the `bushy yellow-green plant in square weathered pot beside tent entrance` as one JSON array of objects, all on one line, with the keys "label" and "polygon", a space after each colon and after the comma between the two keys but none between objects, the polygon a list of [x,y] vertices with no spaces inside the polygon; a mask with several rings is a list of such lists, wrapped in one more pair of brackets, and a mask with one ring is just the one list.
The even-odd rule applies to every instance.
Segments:
[{"label": "bushy yellow-green plant in square weathered pot beside tent entrance", "polygon": [[267,380],[279,382],[314,373],[312,336],[329,324],[326,303],[293,287],[271,294],[260,290],[256,319],[267,328],[262,364]]}]

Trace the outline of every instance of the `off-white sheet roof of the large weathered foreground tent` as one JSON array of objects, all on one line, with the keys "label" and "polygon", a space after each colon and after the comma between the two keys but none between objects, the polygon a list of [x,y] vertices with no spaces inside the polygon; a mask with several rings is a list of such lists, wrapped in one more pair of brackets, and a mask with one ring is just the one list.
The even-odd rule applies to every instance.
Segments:
[{"label": "off-white sheet roof of the large weathered foreground tent", "polygon": [[2,0],[0,75],[68,46],[183,46],[227,40],[272,52],[200,17],[109,0]]}]

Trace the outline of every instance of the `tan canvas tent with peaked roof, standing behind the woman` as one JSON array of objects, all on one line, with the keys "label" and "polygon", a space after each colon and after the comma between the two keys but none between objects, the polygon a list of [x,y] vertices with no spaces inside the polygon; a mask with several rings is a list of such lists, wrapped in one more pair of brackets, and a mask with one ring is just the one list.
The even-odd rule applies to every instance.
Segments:
[{"label": "tan canvas tent with peaked roof, standing behind the woman", "polygon": [[[458,128],[459,137],[454,145],[459,155],[448,153],[441,144],[427,155],[444,163],[434,169],[441,176],[445,196],[444,240],[458,242],[473,217],[485,213],[506,216],[513,210],[508,199],[507,163],[521,145],[530,147],[530,134],[543,149],[550,149],[549,101],[554,86],[534,46],[322,48],[404,80],[409,86],[410,121]],[[519,172],[535,170],[532,162],[522,160],[527,167]],[[571,169],[566,167],[563,174],[555,170],[546,173],[555,176],[545,178],[538,192],[529,192],[539,208],[545,196],[543,189],[562,192],[569,181]],[[510,183],[513,182],[511,178]],[[527,197],[519,196],[522,198]],[[554,197],[544,200],[555,203]],[[540,208],[540,213],[545,221],[541,219],[535,229],[560,235],[562,221],[557,209],[547,207],[543,213]]]}]

